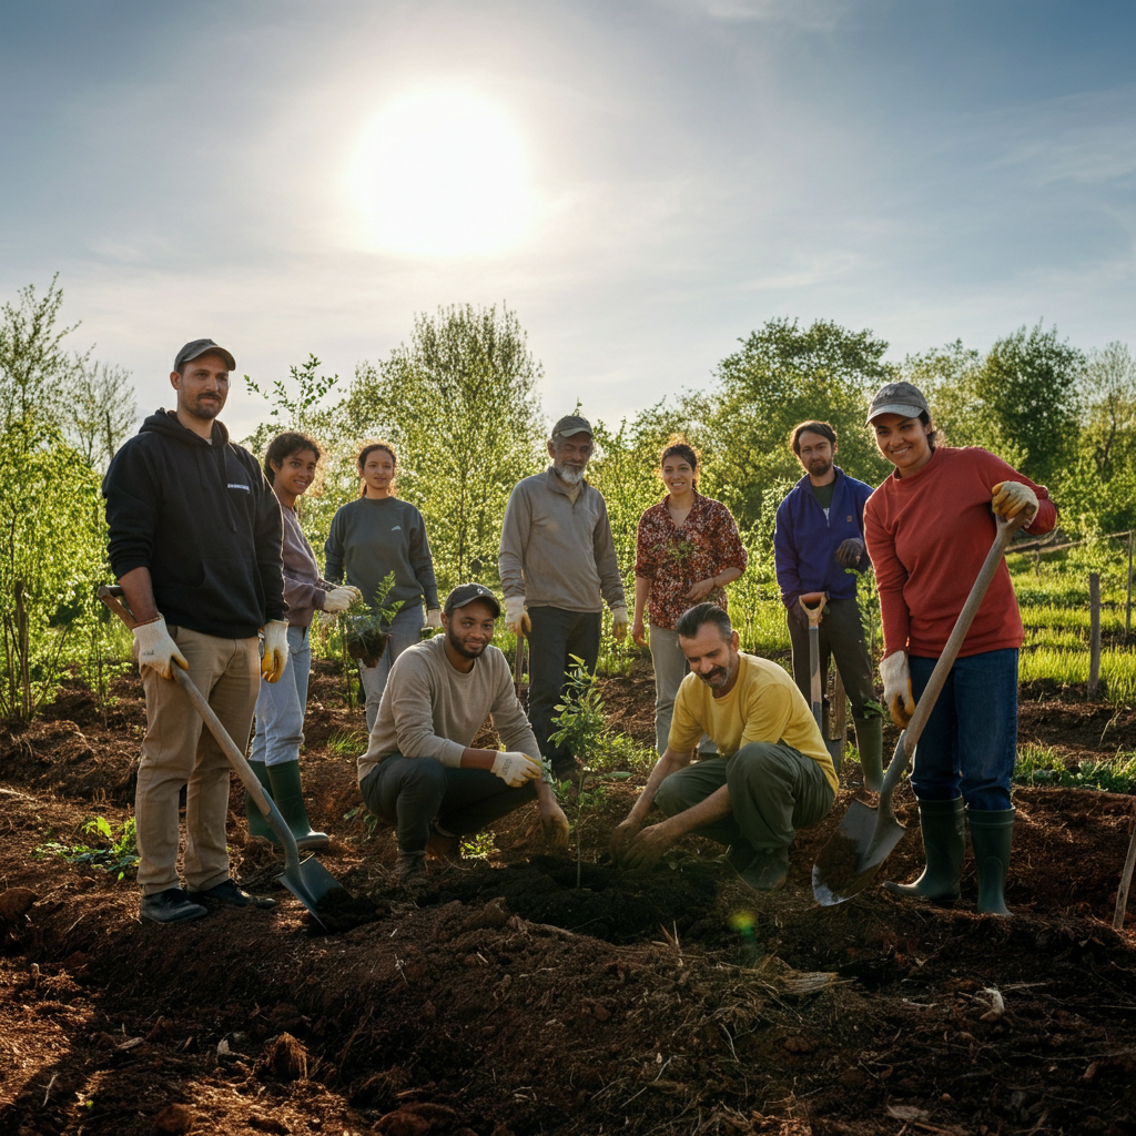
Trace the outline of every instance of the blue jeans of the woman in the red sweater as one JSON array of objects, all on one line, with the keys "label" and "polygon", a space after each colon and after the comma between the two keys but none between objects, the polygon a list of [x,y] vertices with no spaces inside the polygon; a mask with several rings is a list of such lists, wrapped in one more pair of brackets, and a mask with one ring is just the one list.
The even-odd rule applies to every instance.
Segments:
[{"label": "blue jeans of the woman in the red sweater", "polygon": [[[910,655],[911,692],[922,698],[934,659]],[[1010,808],[1018,757],[1018,651],[957,659],[916,749],[911,788],[921,801],[960,793],[978,811]]]}]

